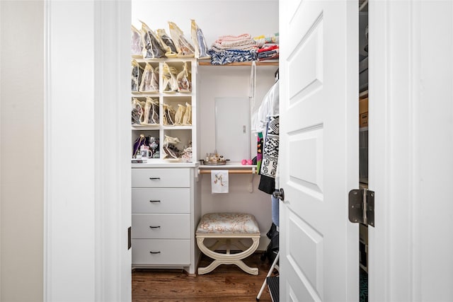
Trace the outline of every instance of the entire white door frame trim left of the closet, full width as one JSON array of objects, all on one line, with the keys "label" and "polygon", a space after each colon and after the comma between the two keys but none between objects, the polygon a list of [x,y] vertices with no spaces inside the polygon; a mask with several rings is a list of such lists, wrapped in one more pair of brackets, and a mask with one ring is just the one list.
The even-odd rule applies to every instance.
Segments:
[{"label": "entire white door frame trim left of the closet, full width", "polygon": [[44,301],[131,300],[130,9],[45,0]]}]

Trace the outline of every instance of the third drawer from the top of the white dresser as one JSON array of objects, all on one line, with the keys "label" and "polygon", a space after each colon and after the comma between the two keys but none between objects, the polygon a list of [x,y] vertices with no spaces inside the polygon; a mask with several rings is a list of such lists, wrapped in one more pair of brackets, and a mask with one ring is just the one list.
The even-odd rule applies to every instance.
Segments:
[{"label": "third drawer from the top of the white dresser", "polygon": [[189,214],[132,214],[132,238],[190,238]]}]

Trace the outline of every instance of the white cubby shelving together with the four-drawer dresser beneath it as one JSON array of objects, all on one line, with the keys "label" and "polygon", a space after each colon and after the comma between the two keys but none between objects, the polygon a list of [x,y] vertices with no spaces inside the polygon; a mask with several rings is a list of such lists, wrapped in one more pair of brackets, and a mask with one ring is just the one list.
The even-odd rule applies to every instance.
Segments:
[{"label": "white cubby shelving together with the four-drawer dresser beneath it", "polygon": [[[132,268],[176,268],[195,274],[200,252],[195,247],[195,227],[200,219],[200,183],[197,143],[197,60],[194,58],[138,59],[143,71],[146,64],[159,70],[159,91],[132,91],[131,102],[147,97],[159,101],[158,124],[132,124],[131,155],[134,142],[143,134],[159,139],[159,158],[146,163],[132,163]],[[191,91],[164,92],[164,64],[183,71],[187,64]],[[131,103],[132,104],[132,103]],[[178,105],[191,106],[191,124],[164,124],[164,105],[178,110]],[[192,143],[188,161],[164,158],[165,136],[177,137],[174,144],[183,151]]]}]

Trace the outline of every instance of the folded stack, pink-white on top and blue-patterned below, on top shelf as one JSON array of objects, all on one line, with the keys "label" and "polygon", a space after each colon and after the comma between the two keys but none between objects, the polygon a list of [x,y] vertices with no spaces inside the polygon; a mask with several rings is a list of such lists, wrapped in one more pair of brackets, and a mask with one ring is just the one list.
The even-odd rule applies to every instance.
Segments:
[{"label": "folded stack, pink-white on top and blue-patterned below, on top shelf", "polygon": [[211,64],[224,65],[257,59],[258,45],[251,35],[224,35],[212,43]]}]

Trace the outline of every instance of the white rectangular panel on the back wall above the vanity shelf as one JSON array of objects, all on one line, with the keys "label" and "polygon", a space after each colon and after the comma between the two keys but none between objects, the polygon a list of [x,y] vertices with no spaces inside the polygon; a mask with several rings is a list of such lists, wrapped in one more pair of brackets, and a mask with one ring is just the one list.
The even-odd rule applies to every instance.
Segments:
[{"label": "white rectangular panel on the back wall above the vanity shelf", "polygon": [[215,148],[230,162],[251,159],[248,97],[215,98]]}]

